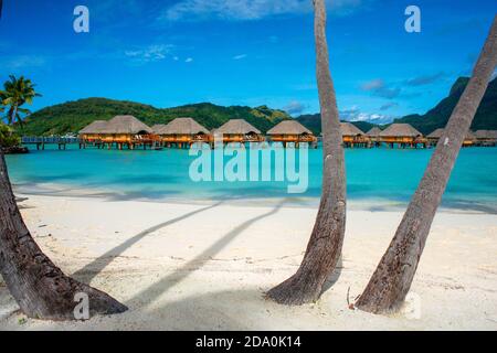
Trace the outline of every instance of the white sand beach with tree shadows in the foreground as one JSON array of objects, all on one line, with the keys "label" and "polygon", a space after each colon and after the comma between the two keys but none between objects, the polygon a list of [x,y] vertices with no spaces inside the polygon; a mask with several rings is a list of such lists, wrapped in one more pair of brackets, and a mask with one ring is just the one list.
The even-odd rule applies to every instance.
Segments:
[{"label": "white sand beach with tree shadows in the foreground", "polygon": [[316,303],[285,307],[263,295],[297,269],[316,208],[27,196],[23,216],[52,260],[129,311],[24,320],[0,282],[0,330],[497,330],[495,214],[440,212],[413,301],[383,317],[348,309],[347,293],[364,288],[402,211],[351,207],[335,284]]}]

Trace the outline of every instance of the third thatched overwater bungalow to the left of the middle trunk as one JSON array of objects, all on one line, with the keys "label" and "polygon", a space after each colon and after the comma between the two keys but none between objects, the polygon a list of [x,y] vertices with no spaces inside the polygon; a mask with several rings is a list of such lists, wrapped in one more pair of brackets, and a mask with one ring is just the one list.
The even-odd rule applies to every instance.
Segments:
[{"label": "third thatched overwater bungalow to the left of the middle trunk", "polygon": [[209,142],[210,132],[192,118],[177,118],[168,125],[154,128],[160,145],[179,148],[189,147],[195,142]]}]

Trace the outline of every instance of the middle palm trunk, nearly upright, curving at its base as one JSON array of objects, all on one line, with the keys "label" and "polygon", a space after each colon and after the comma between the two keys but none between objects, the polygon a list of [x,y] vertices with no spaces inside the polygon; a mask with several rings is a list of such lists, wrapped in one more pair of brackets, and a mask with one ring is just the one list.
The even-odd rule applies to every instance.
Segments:
[{"label": "middle palm trunk, nearly upright, curving at its base", "polygon": [[267,297],[284,304],[316,301],[341,255],[346,224],[346,178],[342,136],[326,41],[326,6],[315,0],[317,82],[324,143],[322,196],[307,250],[297,272]]}]

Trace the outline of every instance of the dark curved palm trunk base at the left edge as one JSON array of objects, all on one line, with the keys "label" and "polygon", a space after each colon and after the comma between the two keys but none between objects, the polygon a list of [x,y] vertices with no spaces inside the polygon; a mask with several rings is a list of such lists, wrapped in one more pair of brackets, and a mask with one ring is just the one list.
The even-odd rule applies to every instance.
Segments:
[{"label": "dark curved palm trunk base at the left edge", "polygon": [[76,293],[88,296],[89,314],[127,310],[108,295],[65,276],[33,240],[21,213],[0,152],[0,272],[21,310],[30,318],[74,320]]}]

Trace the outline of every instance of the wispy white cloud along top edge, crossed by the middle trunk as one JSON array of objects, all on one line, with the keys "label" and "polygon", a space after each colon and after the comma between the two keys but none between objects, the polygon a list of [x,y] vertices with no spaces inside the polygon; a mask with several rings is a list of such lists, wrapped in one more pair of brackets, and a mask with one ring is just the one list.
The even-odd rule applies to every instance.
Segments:
[{"label": "wispy white cloud along top edge, crossed by the middle trunk", "polygon": [[[328,10],[347,14],[368,0],[329,0]],[[169,7],[162,20],[260,20],[272,15],[308,13],[310,0],[182,0]]]}]

